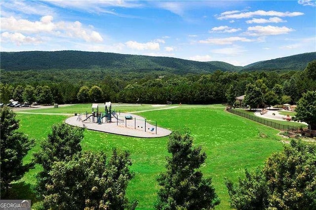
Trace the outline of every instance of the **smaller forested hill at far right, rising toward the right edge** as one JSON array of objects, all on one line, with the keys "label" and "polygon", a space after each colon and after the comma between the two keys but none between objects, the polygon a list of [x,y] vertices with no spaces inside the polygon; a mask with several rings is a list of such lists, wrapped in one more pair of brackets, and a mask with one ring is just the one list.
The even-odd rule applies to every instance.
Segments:
[{"label": "smaller forested hill at far right, rising toward the right edge", "polygon": [[242,71],[254,70],[304,70],[306,65],[316,59],[316,52],[292,55],[269,61],[259,61],[242,68]]}]

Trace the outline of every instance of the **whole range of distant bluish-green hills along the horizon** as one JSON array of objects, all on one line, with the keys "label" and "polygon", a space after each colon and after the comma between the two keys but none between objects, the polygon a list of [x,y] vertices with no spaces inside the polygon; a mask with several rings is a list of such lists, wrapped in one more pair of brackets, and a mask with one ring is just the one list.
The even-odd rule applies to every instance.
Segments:
[{"label": "whole range of distant bluish-green hills along the horizon", "polygon": [[118,72],[169,72],[175,74],[222,71],[304,70],[316,60],[316,52],[303,53],[245,67],[220,61],[198,62],[171,57],[126,55],[84,51],[25,51],[1,52],[0,68],[5,71],[22,70],[86,70],[106,69]]}]

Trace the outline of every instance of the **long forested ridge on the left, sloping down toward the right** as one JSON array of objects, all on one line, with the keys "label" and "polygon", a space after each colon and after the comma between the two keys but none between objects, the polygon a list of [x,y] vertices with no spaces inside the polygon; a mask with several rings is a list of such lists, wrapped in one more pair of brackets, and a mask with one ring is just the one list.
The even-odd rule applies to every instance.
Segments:
[{"label": "long forested ridge on the left, sloping down toward the right", "polygon": [[92,68],[118,72],[161,71],[175,74],[238,70],[224,62],[197,62],[170,57],[82,51],[1,52],[1,69],[6,71]]}]

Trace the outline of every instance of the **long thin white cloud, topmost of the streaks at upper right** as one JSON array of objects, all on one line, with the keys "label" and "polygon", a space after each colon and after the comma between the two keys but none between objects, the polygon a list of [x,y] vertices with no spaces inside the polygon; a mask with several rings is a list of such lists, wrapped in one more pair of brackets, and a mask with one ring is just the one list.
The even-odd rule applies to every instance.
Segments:
[{"label": "long thin white cloud, topmost of the streaks at upper right", "polygon": [[264,10],[257,10],[254,12],[241,12],[241,13],[233,13],[227,14],[225,12],[221,13],[218,20],[227,20],[227,19],[241,19],[241,18],[251,18],[254,16],[275,16],[275,17],[294,17],[304,15],[303,12],[277,12],[277,11],[264,11]]}]

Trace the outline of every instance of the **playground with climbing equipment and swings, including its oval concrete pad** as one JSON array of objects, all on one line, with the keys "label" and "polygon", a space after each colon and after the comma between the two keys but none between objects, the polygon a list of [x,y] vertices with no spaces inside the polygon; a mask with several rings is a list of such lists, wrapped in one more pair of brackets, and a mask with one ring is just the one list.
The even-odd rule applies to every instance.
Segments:
[{"label": "playground with climbing equipment and swings, including its oval concrete pad", "polygon": [[116,112],[112,109],[111,102],[92,104],[91,114],[75,113],[75,116],[68,118],[66,123],[89,130],[134,137],[153,138],[171,134],[171,131],[157,127],[156,121],[131,113]]}]

